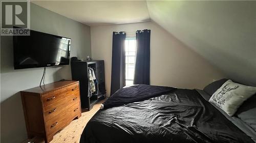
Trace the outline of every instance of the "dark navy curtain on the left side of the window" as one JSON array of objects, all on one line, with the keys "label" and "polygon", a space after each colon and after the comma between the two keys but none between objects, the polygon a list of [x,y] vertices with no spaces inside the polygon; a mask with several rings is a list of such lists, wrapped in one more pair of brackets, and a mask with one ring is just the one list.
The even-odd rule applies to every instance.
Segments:
[{"label": "dark navy curtain on the left side of the window", "polygon": [[124,32],[113,32],[111,95],[125,86],[125,37]]}]

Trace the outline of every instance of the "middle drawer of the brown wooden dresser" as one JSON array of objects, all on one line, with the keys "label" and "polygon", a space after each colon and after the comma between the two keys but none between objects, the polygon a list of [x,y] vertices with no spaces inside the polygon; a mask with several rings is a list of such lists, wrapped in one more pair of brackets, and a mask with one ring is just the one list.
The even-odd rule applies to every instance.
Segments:
[{"label": "middle drawer of the brown wooden dresser", "polygon": [[66,104],[66,106],[67,106],[76,101],[80,101],[79,91],[71,92],[70,94],[62,94],[59,97],[61,97],[61,98],[59,100],[55,101],[54,103],[47,105],[47,106],[44,105],[44,112],[49,113],[50,111],[54,110],[58,106],[61,106],[62,104]]}]

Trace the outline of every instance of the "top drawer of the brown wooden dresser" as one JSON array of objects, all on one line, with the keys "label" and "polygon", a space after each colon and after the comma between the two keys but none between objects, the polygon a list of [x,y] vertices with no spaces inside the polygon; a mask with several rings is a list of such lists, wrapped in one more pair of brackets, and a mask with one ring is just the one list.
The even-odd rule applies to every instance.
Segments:
[{"label": "top drawer of the brown wooden dresser", "polygon": [[77,92],[79,92],[79,84],[75,83],[75,84],[69,85],[66,88],[62,88],[54,92],[42,95],[42,103],[44,107],[46,107],[48,105],[51,105],[57,102],[58,100],[65,98],[67,95],[77,93]]}]

